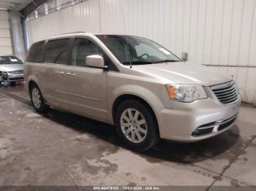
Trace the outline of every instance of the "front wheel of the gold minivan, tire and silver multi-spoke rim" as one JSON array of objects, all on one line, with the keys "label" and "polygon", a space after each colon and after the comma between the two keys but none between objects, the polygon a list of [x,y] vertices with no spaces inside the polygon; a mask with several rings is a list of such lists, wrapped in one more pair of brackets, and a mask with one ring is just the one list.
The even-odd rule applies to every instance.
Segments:
[{"label": "front wheel of the gold minivan, tire and silver multi-spoke rim", "polygon": [[116,109],[115,123],[118,136],[131,149],[146,151],[159,140],[154,114],[140,101],[122,102]]}]

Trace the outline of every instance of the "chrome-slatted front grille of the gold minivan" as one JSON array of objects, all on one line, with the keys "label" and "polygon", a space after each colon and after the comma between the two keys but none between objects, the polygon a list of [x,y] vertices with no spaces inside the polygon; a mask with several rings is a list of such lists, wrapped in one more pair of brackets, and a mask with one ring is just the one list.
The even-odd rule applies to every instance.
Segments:
[{"label": "chrome-slatted front grille of the gold minivan", "polygon": [[222,104],[232,104],[238,99],[238,90],[235,82],[211,86],[211,90]]}]

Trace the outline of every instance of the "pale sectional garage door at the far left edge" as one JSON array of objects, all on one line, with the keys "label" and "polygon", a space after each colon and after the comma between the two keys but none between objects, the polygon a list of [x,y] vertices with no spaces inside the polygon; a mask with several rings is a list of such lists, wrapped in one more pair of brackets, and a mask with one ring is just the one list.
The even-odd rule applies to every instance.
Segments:
[{"label": "pale sectional garage door at the far left edge", "polygon": [[12,55],[12,41],[7,11],[0,11],[0,55]]}]

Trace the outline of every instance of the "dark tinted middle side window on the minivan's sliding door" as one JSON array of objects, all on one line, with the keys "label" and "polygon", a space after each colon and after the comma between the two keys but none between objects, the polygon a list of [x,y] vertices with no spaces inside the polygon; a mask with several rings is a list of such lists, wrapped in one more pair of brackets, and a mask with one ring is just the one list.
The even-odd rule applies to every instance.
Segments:
[{"label": "dark tinted middle side window on the minivan's sliding door", "polygon": [[70,39],[49,41],[45,48],[45,63],[59,63],[68,65],[68,50]]}]

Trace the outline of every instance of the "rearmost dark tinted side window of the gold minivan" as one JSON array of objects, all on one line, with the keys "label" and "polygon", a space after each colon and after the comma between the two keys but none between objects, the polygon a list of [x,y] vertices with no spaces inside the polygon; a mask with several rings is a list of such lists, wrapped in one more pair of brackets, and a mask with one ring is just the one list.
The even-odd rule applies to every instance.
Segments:
[{"label": "rearmost dark tinted side window of the gold minivan", "polygon": [[26,61],[41,63],[43,61],[44,45],[44,41],[33,44],[29,48],[28,55],[26,56]]}]

